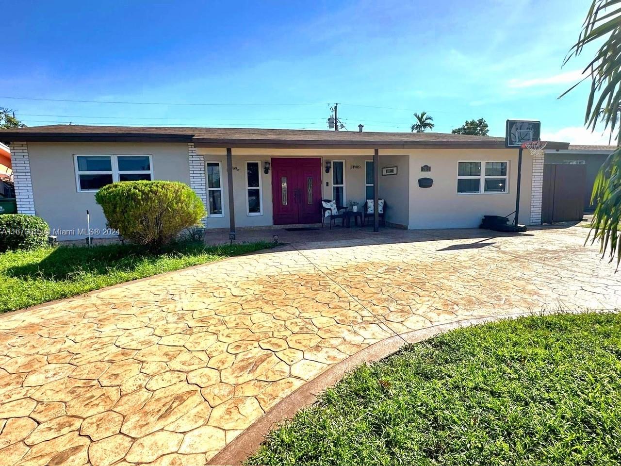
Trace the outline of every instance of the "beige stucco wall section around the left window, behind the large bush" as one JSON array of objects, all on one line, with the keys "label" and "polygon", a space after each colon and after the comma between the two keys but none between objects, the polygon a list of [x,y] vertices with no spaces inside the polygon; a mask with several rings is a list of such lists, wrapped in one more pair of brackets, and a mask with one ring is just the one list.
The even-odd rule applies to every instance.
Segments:
[{"label": "beige stucco wall section around the left window, behind the large bush", "polygon": [[[95,193],[78,193],[73,161],[76,153],[150,154],[155,180],[183,181],[189,185],[187,144],[29,142],[28,152],[35,212],[51,229],[86,228],[86,209],[91,213],[91,228],[106,227],[106,218],[95,202]],[[57,236],[60,240],[84,237]]]}]

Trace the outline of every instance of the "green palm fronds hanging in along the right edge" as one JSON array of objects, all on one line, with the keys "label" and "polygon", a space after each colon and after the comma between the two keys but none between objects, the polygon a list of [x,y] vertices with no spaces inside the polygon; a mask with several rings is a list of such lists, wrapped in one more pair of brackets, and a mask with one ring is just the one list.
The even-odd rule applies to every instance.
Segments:
[{"label": "green palm fronds hanging in along the right edge", "polygon": [[621,133],[618,127],[621,107],[621,0],[593,0],[578,42],[569,50],[564,63],[578,57],[585,45],[599,39],[604,39],[604,43],[582,71],[586,76],[580,81],[591,78],[584,124],[592,131],[598,123],[603,124],[604,130],[610,131],[610,140],[613,137],[616,140],[617,148],[605,160],[593,186],[591,202],[597,201],[597,207],[589,237],[592,234],[592,243],[599,240],[602,257],[608,254],[610,262],[617,258],[618,269],[621,262]]}]

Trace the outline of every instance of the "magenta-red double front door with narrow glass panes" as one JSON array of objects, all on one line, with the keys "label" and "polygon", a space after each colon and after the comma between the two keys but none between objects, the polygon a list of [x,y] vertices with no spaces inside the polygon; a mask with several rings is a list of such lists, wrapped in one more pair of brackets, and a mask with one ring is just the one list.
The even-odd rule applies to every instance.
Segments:
[{"label": "magenta-red double front door with narrow glass panes", "polygon": [[321,221],[321,159],[273,158],[274,225]]}]

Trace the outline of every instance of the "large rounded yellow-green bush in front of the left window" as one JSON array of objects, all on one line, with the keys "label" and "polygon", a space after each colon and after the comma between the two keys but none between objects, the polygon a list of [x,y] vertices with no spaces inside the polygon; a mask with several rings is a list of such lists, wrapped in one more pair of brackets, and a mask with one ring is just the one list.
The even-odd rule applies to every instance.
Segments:
[{"label": "large rounded yellow-green bush in front of the left window", "polygon": [[201,198],[178,181],[122,181],[95,194],[108,226],[127,240],[157,250],[206,215]]}]

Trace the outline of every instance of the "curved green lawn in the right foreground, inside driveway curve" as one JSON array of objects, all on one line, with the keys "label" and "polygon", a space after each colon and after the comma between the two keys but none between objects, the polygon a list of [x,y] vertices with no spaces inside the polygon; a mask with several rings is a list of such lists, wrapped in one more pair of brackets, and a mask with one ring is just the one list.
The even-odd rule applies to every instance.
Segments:
[{"label": "curved green lawn in the right foreground, inside driveway curve", "polygon": [[263,465],[619,465],[621,316],[469,327],[363,365],[270,433]]}]

